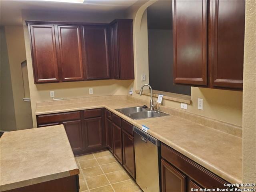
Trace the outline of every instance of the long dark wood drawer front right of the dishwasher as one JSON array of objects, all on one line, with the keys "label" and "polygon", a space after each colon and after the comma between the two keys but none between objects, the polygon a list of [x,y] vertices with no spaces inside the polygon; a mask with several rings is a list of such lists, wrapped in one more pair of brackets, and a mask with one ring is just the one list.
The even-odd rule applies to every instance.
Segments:
[{"label": "long dark wood drawer front right of the dishwasher", "polygon": [[161,145],[161,155],[204,188],[226,188],[225,180],[165,144]]}]

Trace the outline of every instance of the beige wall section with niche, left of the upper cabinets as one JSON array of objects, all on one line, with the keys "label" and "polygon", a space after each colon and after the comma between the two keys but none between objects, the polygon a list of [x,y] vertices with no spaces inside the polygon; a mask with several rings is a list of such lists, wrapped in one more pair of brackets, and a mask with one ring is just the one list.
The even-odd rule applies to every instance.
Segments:
[{"label": "beige wall section with niche, left of the upper cabinets", "polygon": [[12,78],[12,92],[17,130],[32,128],[30,102],[23,101],[24,86],[21,63],[26,60],[22,26],[5,26],[6,42]]}]

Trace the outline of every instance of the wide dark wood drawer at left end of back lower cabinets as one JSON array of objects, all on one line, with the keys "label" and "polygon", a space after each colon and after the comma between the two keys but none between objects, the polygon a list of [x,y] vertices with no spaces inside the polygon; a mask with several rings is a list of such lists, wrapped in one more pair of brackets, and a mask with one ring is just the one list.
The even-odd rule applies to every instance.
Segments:
[{"label": "wide dark wood drawer at left end of back lower cabinets", "polygon": [[80,111],[38,115],[37,124],[48,124],[53,122],[62,122],[76,119],[80,119]]}]

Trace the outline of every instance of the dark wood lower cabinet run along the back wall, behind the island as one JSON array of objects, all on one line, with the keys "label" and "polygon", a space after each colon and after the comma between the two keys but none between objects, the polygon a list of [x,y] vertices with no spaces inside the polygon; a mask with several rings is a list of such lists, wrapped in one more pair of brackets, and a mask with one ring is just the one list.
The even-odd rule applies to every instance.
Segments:
[{"label": "dark wood lower cabinet run along the back wall, behind the island", "polygon": [[74,155],[106,150],[104,109],[37,116],[38,127],[63,124]]}]

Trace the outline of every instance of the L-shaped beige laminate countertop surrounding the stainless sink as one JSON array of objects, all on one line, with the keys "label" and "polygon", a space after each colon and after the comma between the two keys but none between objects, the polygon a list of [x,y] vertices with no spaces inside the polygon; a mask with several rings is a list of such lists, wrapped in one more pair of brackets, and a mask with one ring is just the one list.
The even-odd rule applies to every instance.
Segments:
[{"label": "L-shaped beige laminate countertop surrounding the stainless sink", "polygon": [[242,182],[242,139],[178,116],[132,120],[115,109],[141,106],[130,100],[97,100],[38,106],[36,115],[106,108],[230,183]]}]

